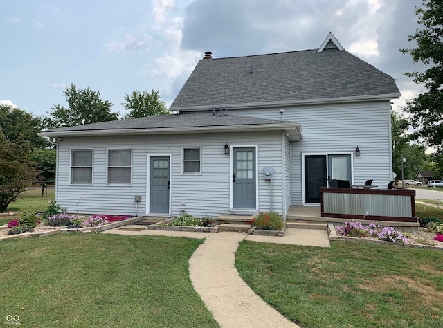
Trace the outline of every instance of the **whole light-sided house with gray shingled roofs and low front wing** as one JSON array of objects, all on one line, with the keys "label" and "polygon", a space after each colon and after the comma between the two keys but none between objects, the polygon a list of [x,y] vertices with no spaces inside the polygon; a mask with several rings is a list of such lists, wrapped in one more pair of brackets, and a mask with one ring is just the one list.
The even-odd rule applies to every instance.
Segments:
[{"label": "whole light-sided house with gray shingled roofs and low front wing", "polygon": [[206,53],[169,116],[43,131],[67,212],[216,217],[318,205],[327,179],[392,180],[395,80],[329,33],[317,49]]}]

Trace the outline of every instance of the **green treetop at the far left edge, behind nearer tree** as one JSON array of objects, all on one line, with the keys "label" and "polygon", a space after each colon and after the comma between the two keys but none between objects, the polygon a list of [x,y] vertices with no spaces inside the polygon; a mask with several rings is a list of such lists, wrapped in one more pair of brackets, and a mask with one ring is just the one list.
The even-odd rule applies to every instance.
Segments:
[{"label": "green treetop at the far left edge, behind nearer tree", "polygon": [[21,133],[24,140],[29,141],[33,147],[44,148],[48,146],[45,138],[37,136],[42,130],[42,119],[33,117],[19,108],[13,108],[8,104],[0,105],[0,129],[6,140],[13,143]]}]

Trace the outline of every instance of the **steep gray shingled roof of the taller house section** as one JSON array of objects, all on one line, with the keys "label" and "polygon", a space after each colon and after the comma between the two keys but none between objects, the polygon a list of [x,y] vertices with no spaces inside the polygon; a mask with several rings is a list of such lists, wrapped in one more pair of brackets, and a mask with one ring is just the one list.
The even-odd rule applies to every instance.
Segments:
[{"label": "steep gray shingled roof of the taller house section", "polygon": [[170,109],[383,95],[400,93],[374,66],[344,50],[307,50],[200,60]]}]

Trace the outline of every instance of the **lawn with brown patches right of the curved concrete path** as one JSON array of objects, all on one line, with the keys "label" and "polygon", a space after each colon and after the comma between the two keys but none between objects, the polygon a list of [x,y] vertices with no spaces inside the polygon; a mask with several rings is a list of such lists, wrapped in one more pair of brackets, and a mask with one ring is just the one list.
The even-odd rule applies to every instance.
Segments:
[{"label": "lawn with brown patches right of the curved concrete path", "polygon": [[443,253],[366,243],[242,241],[242,278],[301,327],[443,327]]}]

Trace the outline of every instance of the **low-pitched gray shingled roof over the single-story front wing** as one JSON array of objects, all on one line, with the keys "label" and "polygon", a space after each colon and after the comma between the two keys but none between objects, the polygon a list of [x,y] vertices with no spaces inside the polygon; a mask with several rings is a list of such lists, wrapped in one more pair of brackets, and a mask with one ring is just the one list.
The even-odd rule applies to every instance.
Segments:
[{"label": "low-pitched gray shingled roof over the single-story front wing", "polygon": [[[278,114],[277,114],[278,115]],[[220,129],[262,128],[273,130],[290,130],[289,133],[297,134],[301,138],[301,128],[297,122],[284,120],[271,120],[249,116],[230,115],[219,116],[219,112],[212,113],[184,113],[180,115],[150,116],[145,118],[132,118],[127,120],[113,120],[75,127],[60,127],[42,131],[42,136],[92,136],[95,134],[137,134],[137,133],[174,133],[175,131],[204,132]]]}]

